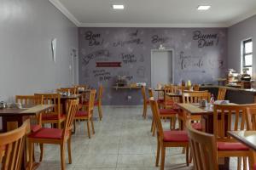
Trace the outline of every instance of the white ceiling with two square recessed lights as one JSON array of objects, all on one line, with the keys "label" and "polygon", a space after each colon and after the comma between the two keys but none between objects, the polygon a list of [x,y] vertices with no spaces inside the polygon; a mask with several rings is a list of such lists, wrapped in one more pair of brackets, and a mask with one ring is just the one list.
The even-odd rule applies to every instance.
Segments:
[{"label": "white ceiling with two square recessed lights", "polygon": [[[77,26],[218,27],[256,14],[256,0],[49,0]],[[113,10],[112,4],[124,4]],[[207,11],[198,5],[211,5]]]}]

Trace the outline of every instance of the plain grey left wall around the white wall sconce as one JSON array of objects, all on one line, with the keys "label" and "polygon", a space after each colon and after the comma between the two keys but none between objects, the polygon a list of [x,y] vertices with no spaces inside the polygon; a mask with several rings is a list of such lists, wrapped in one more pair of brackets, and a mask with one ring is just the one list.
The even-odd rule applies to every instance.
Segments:
[{"label": "plain grey left wall around the white wall sconce", "polygon": [[[50,48],[54,37],[56,63]],[[72,48],[78,48],[78,28],[48,0],[1,0],[0,100],[70,85]]]}]

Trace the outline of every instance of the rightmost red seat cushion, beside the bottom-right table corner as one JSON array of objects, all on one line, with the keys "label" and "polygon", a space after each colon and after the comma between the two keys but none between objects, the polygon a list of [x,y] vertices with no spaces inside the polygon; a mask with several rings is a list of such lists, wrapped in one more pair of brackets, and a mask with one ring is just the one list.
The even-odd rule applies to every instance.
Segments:
[{"label": "rightmost red seat cushion, beside the bottom-right table corner", "polygon": [[239,142],[218,142],[218,150],[249,150],[248,147]]}]

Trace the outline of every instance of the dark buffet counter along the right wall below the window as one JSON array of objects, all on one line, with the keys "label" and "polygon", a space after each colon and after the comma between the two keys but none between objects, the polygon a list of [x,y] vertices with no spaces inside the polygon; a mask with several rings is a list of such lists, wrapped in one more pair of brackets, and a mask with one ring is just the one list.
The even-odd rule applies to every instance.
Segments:
[{"label": "dark buffet counter along the right wall below the window", "polygon": [[218,95],[218,88],[227,88],[225,99],[236,104],[252,104],[256,103],[256,89],[232,88],[227,86],[201,86],[201,90],[208,90],[214,95],[215,99]]}]

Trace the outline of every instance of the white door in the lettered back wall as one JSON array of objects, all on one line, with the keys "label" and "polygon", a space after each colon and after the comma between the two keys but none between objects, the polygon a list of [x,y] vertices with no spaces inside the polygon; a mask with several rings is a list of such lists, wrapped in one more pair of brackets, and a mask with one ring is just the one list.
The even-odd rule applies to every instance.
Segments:
[{"label": "white door in the lettered back wall", "polygon": [[173,83],[172,50],[151,51],[151,87],[158,83]]}]

